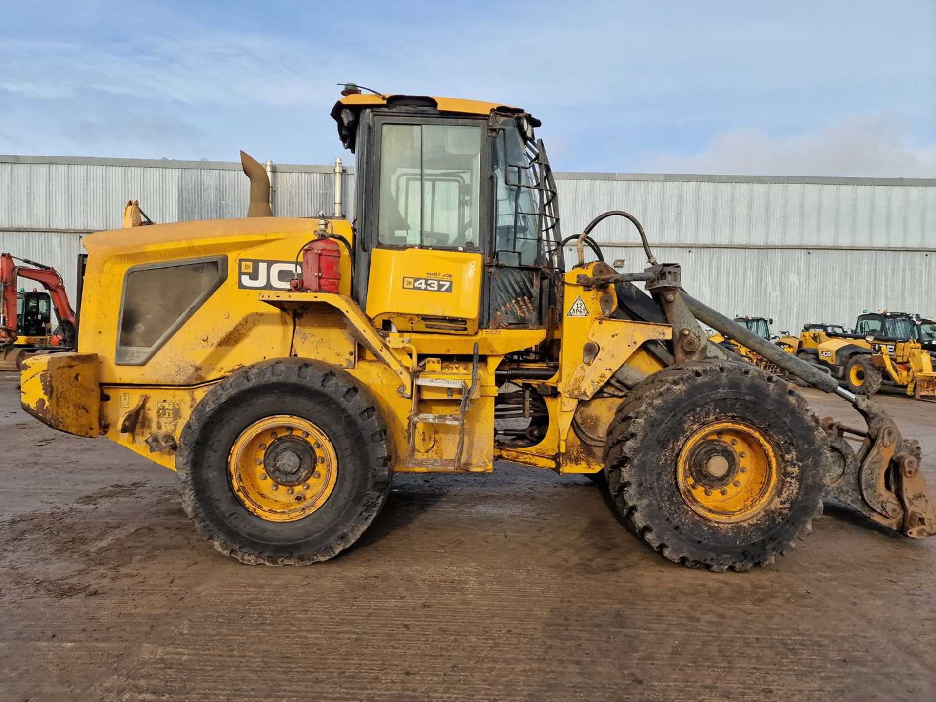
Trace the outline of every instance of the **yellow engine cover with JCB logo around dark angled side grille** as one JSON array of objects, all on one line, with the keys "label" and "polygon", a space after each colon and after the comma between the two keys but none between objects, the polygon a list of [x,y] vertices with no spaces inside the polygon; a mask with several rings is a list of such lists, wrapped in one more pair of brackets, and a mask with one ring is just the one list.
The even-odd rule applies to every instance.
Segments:
[{"label": "yellow engine cover with JCB logo around dark angled side grille", "polygon": [[[87,280],[107,295],[87,295],[81,309],[79,351],[104,359],[101,382],[123,385],[193,386],[227,376],[241,366],[289,355],[292,316],[271,308],[258,293],[286,291],[296,274],[304,243],[314,240],[317,220],[253,217],[134,227],[97,232],[84,239],[88,249]],[[353,241],[344,220],[329,221],[334,233]],[[181,327],[151,352],[144,362],[115,360],[123,344],[121,311],[125,281],[134,271],[174,262],[217,261],[224,280],[211,295],[190,310]],[[341,290],[350,293],[348,256],[341,260]],[[143,288],[153,298],[149,314],[166,307],[173,278]],[[132,301],[132,300],[131,300]],[[184,300],[183,300],[184,301]],[[145,326],[148,318],[138,324]],[[135,329],[124,328],[132,336]],[[136,353],[136,352],[135,352]]]}]

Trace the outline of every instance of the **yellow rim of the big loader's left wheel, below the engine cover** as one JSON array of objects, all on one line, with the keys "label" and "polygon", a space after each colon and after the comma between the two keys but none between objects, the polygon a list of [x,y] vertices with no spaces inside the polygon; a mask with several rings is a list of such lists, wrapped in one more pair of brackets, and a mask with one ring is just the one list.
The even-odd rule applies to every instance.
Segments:
[{"label": "yellow rim of the big loader's left wheel, below the engine cover", "polygon": [[338,459],[325,432],[292,415],[260,419],[227,456],[231,489],[260,519],[295,521],[324,505],[335,489]]}]

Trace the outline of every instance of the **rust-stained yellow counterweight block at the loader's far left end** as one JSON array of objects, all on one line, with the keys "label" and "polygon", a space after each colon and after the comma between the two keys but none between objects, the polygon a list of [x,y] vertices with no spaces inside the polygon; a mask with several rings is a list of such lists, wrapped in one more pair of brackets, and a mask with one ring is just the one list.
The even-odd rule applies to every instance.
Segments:
[{"label": "rust-stained yellow counterweight block at the loader's far left end", "polygon": [[95,354],[40,354],[23,361],[22,407],[53,429],[97,436],[100,364]]}]

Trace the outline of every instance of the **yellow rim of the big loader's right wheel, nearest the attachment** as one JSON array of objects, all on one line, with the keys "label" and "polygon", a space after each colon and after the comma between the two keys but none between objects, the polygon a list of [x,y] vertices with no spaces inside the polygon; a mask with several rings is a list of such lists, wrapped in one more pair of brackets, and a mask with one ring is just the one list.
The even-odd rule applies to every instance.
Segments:
[{"label": "yellow rim of the big loader's right wheel, nearest the attachment", "polygon": [[682,499],[722,523],[751,519],[777,489],[777,454],[764,432],[742,422],[713,422],[689,437],[677,462]]}]

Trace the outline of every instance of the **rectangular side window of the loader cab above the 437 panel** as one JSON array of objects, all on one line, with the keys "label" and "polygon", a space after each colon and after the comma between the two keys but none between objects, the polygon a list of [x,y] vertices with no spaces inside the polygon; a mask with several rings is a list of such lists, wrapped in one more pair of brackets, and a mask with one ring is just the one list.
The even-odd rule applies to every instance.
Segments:
[{"label": "rectangular side window of the loader cab above the 437 panel", "polygon": [[381,126],[380,243],[477,248],[481,137],[479,126]]}]

